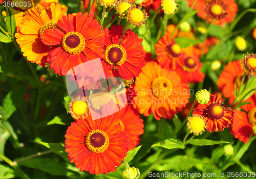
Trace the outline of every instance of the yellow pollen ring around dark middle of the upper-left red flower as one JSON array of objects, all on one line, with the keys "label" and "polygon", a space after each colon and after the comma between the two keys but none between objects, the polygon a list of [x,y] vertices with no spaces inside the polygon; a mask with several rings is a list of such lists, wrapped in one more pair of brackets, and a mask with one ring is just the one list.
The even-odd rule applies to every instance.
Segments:
[{"label": "yellow pollen ring around dark middle of the upper-left red flower", "polygon": [[[72,43],[72,41],[69,40],[69,37],[75,35],[77,38],[79,38],[79,44],[75,47],[71,47],[70,44]],[[69,40],[68,42],[66,40]],[[75,42],[77,43],[77,42]],[[80,52],[82,52],[84,46],[86,45],[86,41],[84,40],[83,36],[78,33],[78,32],[68,32],[67,34],[65,34],[65,36],[63,36],[62,41],[61,41],[62,47],[64,48],[65,52],[67,52],[68,54],[79,54]]]}]

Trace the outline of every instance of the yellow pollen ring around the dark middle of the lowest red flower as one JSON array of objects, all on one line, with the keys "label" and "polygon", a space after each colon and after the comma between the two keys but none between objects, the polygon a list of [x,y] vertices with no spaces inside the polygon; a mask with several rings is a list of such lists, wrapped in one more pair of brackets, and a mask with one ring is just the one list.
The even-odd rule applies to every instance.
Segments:
[{"label": "yellow pollen ring around the dark middle of the lowest red flower", "polygon": [[[97,139],[91,139],[92,135],[95,133],[99,133],[99,135],[102,135],[105,139],[104,143],[100,147],[96,147],[92,143],[92,140],[96,140],[97,142]],[[108,148],[109,143],[110,143],[109,136],[104,131],[101,131],[101,130],[92,130],[86,136],[86,146],[90,151],[94,153],[101,153],[105,151]]]}]

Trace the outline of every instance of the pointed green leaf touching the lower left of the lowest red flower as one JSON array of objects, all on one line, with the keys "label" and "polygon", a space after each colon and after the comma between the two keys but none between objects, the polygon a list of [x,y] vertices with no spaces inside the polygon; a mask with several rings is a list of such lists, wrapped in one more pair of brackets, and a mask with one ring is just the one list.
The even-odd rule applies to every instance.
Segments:
[{"label": "pointed green leaf touching the lower left of the lowest red flower", "polygon": [[46,143],[40,142],[42,145],[45,145],[47,148],[52,150],[55,154],[61,156],[67,162],[69,162],[68,153],[65,151],[66,147],[64,143]]}]

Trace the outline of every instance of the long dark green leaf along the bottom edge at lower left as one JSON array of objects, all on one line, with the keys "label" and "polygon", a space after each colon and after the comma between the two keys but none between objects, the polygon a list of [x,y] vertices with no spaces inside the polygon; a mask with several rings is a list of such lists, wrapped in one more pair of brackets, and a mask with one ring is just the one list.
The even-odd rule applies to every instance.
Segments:
[{"label": "long dark green leaf along the bottom edge at lower left", "polygon": [[27,166],[29,168],[35,168],[52,175],[59,176],[70,176],[78,175],[77,172],[74,172],[70,169],[67,169],[68,163],[56,162],[53,159],[28,159],[17,164],[18,166]]}]

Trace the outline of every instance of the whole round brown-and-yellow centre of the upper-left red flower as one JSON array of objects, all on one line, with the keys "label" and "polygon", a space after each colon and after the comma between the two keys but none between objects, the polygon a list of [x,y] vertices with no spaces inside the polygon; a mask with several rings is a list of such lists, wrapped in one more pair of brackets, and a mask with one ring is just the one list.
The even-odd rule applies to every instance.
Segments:
[{"label": "whole round brown-and-yellow centre of the upper-left red flower", "polygon": [[79,54],[85,45],[83,36],[78,32],[68,32],[62,38],[62,47],[68,54]]}]

